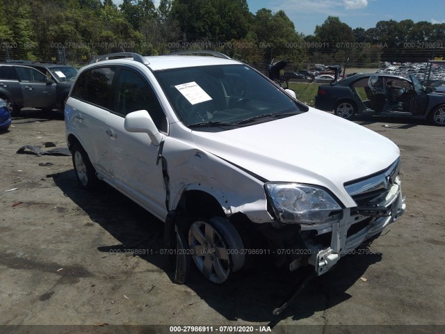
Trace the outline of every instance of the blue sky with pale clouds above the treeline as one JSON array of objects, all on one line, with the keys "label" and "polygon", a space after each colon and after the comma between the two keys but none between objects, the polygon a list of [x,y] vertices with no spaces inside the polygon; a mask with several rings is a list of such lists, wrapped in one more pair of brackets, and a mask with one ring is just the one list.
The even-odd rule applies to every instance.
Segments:
[{"label": "blue sky with pale clouds above the treeline", "polygon": [[[116,4],[122,0],[113,0]],[[355,29],[373,28],[382,20],[412,19],[414,22],[427,21],[445,23],[445,0],[247,0],[249,9],[256,13],[268,8],[273,13],[284,10],[295,24],[298,33],[314,34],[316,25],[325,19],[337,16],[341,22]],[[156,8],[159,0],[153,1]]]}]

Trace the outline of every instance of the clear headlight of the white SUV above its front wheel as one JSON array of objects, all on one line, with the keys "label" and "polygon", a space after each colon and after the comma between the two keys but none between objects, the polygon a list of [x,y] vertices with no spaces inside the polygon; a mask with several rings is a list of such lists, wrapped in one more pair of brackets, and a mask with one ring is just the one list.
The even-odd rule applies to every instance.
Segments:
[{"label": "clear headlight of the white SUV above its front wheel", "polygon": [[329,193],[316,186],[267,183],[266,189],[283,223],[323,223],[332,211],[341,209]]}]

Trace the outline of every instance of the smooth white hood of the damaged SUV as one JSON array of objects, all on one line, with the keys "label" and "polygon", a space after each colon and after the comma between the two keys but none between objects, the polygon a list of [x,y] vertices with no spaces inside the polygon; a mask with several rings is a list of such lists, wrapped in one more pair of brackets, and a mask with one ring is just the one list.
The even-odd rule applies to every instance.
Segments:
[{"label": "smooth white hood of the damaged SUV", "polygon": [[388,138],[313,108],[238,129],[192,133],[199,148],[259,180],[324,186],[346,207],[355,202],[345,182],[384,170],[400,155]]}]

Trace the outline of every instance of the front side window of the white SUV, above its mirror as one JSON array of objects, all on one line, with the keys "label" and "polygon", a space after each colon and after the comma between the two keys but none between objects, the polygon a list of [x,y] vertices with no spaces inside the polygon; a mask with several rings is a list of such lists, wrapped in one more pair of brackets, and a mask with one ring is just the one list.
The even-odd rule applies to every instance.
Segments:
[{"label": "front side window of the white SUV, above its mirror", "polygon": [[140,74],[125,68],[120,72],[116,86],[116,109],[120,116],[137,110],[147,110],[156,127],[166,132],[167,119],[152,88]]}]

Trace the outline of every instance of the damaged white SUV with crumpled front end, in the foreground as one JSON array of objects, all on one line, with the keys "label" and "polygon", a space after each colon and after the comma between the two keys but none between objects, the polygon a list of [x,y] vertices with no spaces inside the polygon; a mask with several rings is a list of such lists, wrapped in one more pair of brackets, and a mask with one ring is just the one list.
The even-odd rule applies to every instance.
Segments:
[{"label": "damaged white SUV with crumpled front end, in the foreground", "polygon": [[403,214],[394,143],[207,53],[97,58],[65,106],[79,184],[164,221],[178,283],[192,259],[224,283],[261,255],[321,275]]}]

